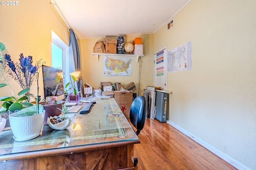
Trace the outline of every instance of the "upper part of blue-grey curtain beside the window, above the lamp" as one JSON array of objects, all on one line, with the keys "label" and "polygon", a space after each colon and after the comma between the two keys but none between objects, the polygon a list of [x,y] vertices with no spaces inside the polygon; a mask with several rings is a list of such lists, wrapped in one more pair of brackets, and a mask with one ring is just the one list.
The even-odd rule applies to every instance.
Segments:
[{"label": "upper part of blue-grey curtain beside the window, above the lamp", "polygon": [[79,53],[78,43],[77,43],[76,35],[73,29],[69,29],[69,30],[70,30],[69,47],[72,47],[75,69],[78,69],[80,68],[80,53]]}]

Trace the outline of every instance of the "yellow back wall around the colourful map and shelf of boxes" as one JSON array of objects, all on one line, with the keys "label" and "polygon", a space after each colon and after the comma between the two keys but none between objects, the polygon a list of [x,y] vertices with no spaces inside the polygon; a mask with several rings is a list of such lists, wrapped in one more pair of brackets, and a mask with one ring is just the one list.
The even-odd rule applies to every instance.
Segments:
[{"label": "yellow back wall around the colourful map and shelf of boxes", "polygon": [[[84,83],[87,82],[94,89],[99,88],[100,82],[121,82],[122,87],[126,86],[130,82],[134,82],[137,90],[135,93],[139,93],[139,82],[140,86],[140,95],[141,89],[146,88],[146,86],[154,85],[153,78],[153,48],[152,48],[152,34],[146,35],[128,35],[126,36],[127,42],[132,42],[134,38],[141,37],[143,42],[143,57],[142,57],[142,74],[141,81],[139,77],[140,72],[140,59],[137,63],[136,57],[132,58],[132,76],[103,76],[103,57],[99,56],[99,62],[97,57],[92,55],[94,45],[98,40],[101,40],[102,37],[96,39],[80,39],[78,40],[80,48],[80,58],[81,58],[81,68],[84,77]],[[111,57],[111,56],[109,56]]]}]

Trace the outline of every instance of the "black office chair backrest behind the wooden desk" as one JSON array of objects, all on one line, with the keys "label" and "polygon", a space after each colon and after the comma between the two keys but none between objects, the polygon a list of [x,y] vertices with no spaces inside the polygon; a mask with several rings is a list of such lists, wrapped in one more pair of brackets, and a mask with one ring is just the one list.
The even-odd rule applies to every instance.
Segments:
[{"label": "black office chair backrest behind the wooden desk", "polygon": [[130,122],[137,129],[136,135],[140,134],[140,131],[144,127],[146,119],[146,98],[145,96],[138,96],[132,102],[130,107]]}]

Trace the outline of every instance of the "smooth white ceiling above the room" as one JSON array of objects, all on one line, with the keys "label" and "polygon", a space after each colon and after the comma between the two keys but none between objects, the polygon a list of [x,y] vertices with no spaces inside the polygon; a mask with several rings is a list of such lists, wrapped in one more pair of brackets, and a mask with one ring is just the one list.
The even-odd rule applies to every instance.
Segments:
[{"label": "smooth white ceiling above the room", "polygon": [[154,33],[191,0],[54,1],[77,39],[87,39]]}]

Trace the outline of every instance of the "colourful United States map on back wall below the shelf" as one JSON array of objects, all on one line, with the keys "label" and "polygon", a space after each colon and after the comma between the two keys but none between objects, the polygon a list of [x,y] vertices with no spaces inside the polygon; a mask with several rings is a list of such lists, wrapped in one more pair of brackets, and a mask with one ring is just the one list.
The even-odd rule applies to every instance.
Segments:
[{"label": "colourful United States map on back wall below the shelf", "polygon": [[104,57],[103,76],[132,76],[132,58]]}]

